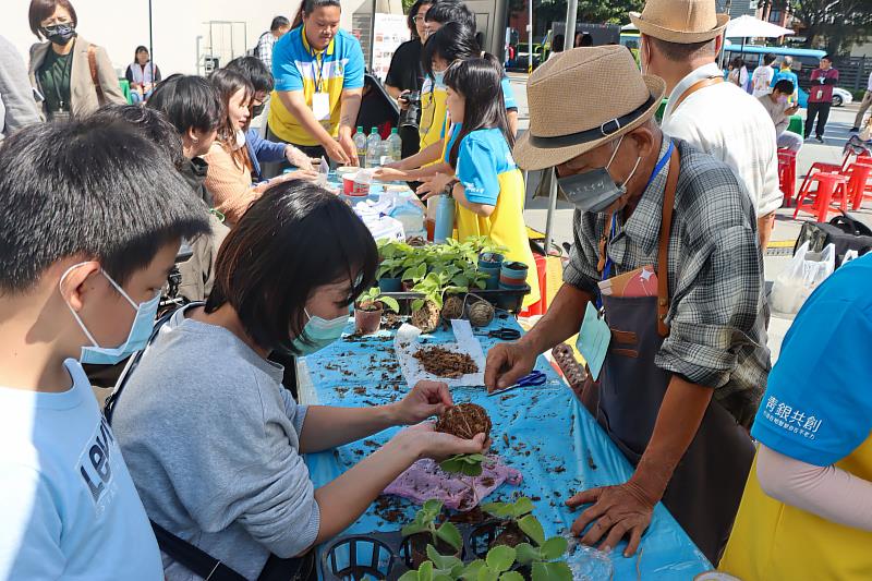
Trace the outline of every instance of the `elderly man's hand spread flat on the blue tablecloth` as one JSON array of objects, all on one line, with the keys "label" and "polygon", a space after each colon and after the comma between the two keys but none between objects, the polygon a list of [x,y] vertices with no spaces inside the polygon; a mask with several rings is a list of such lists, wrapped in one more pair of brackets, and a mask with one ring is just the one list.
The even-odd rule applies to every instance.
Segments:
[{"label": "elderly man's hand spread flat on the blue tablecloth", "polygon": [[604,553],[609,553],[621,538],[629,535],[623,556],[631,557],[639,548],[642,533],[651,524],[651,515],[657,500],[650,498],[638,484],[626,482],[618,486],[584,491],[566,501],[572,509],[590,503],[593,506],[586,508],[572,523],[572,534],[581,536],[584,528],[593,522],[581,542],[593,546],[605,538],[600,544],[600,549]]}]

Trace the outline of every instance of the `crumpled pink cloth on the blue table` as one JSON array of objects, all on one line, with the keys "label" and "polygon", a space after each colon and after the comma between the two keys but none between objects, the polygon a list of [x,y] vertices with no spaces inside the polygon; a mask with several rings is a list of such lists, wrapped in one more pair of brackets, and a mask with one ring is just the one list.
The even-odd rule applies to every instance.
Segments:
[{"label": "crumpled pink cloth on the blue table", "polygon": [[[481,501],[504,482],[517,486],[522,479],[520,472],[504,464],[499,457],[488,456],[482,467],[482,475],[475,476],[473,483],[477,500]],[[385,488],[385,494],[402,496],[419,505],[435,498],[453,510],[469,509],[479,504],[469,483],[469,476],[447,474],[435,461],[425,459],[419,460],[397,476]]]}]

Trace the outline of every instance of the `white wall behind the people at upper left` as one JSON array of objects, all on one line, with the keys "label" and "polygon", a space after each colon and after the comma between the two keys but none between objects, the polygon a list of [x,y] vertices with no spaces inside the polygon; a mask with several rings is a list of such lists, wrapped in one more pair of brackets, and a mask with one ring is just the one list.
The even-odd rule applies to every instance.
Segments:
[{"label": "white wall behind the people at upper left", "polygon": [[[155,63],[164,75],[197,72],[197,36],[208,45],[208,21],[234,21],[243,26],[214,26],[215,52],[221,64],[230,57],[232,44],[237,56],[254,48],[274,16],[293,19],[301,0],[152,0]],[[370,0],[342,0],[342,26],[351,29],[352,13]],[[133,61],[137,45],[148,46],[148,0],[72,0],[78,15],[78,32],[109,51],[112,63],[122,74]],[[9,38],[27,58],[36,38],[27,25],[29,0],[0,0],[0,35]]]}]

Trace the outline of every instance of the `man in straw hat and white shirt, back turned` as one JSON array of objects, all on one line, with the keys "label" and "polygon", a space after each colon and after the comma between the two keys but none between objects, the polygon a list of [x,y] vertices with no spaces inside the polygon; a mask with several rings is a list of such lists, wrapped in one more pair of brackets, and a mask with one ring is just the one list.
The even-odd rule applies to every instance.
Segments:
[{"label": "man in straw hat and white shirt, back turned", "polygon": [[765,254],[784,197],[778,146],[763,106],[725,83],[715,62],[729,16],[715,14],[715,0],[647,0],[630,20],[642,35],[642,71],[666,81],[663,131],[732,168],[754,203]]}]

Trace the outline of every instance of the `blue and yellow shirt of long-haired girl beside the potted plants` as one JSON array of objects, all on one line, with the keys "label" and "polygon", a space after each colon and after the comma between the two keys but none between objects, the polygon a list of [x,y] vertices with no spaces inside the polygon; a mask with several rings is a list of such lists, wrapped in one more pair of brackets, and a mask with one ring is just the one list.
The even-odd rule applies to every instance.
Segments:
[{"label": "blue and yellow shirt of long-haired girl beside the potted plants", "polygon": [[[446,161],[459,134],[460,125],[456,124],[446,146]],[[523,306],[538,302],[536,263],[524,225],[524,179],[502,132],[498,129],[480,129],[464,136],[458,150],[456,174],[467,199],[494,206],[491,216],[480,216],[458,204],[458,240],[462,242],[470,237],[491,237],[494,243],[508,249],[506,261],[517,261],[528,266],[530,294],[524,298]]]}]

